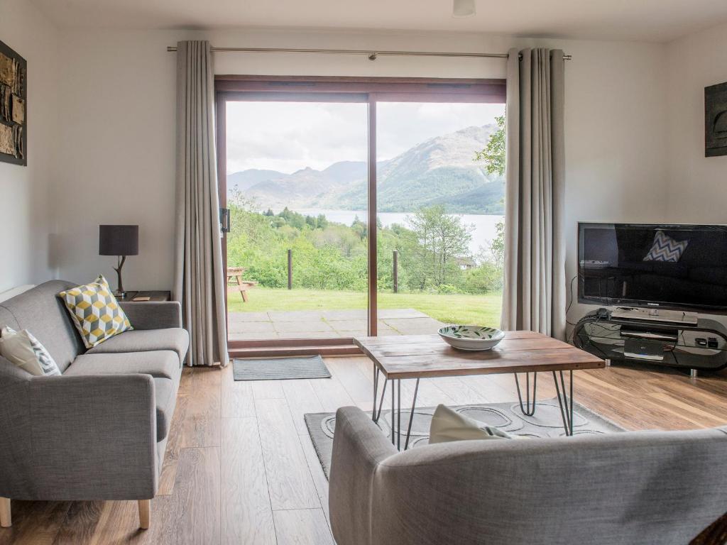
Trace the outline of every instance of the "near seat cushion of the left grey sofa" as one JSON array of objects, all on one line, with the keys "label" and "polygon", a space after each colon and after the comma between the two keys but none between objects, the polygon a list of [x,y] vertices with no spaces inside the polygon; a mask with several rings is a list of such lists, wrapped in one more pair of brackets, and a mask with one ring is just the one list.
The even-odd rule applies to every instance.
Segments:
[{"label": "near seat cushion of the left grey sofa", "polygon": [[82,354],[73,360],[64,375],[103,375],[143,373],[155,378],[179,382],[182,375],[177,352],[119,352],[116,354]]}]

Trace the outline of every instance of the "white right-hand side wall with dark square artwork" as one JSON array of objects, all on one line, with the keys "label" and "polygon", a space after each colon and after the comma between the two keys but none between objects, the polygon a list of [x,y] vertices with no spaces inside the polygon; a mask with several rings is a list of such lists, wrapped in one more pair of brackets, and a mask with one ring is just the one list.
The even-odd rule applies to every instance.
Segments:
[{"label": "white right-hand side wall with dark square artwork", "polygon": [[678,222],[727,223],[727,156],[704,157],[704,87],[727,81],[727,25],[667,47],[669,209]]}]

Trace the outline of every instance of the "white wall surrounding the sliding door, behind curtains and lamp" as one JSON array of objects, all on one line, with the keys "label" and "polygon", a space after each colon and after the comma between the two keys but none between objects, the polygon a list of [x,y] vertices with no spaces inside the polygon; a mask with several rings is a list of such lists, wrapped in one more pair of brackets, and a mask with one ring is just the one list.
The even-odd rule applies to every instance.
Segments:
[{"label": "white wall surrounding the sliding door, behind curtains and lamp", "polygon": [[[113,275],[97,256],[97,225],[140,225],[139,257],[126,262],[128,288],[169,288],[174,217],[174,54],[179,39],[217,46],[338,47],[505,52],[510,46],[562,47],[566,65],[566,171],[569,275],[578,220],[667,219],[667,110],[664,47],[608,41],[527,40],[427,33],[281,31],[65,31],[61,96],[63,208],[60,275]],[[504,77],[502,60],[219,53],[217,73],[347,76]],[[100,187],[99,191],[92,190]]]}]

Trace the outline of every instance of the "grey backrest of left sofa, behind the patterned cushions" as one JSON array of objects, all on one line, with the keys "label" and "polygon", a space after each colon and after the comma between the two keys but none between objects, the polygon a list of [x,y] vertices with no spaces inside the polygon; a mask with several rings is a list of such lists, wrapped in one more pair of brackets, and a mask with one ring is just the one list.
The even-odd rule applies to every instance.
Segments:
[{"label": "grey backrest of left sofa, behind the patterned cushions", "polygon": [[57,294],[76,284],[51,280],[0,304],[0,327],[28,329],[57,363],[61,373],[84,352],[76,328]]}]

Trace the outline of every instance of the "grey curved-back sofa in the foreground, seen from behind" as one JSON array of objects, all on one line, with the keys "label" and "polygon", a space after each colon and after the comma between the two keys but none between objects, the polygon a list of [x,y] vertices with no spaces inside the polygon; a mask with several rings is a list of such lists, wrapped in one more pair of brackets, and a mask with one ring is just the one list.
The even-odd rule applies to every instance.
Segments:
[{"label": "grey curved-back sofa in the foreground, seen from behind", "polygon": [[337,412],[338,545],[686,545],[727,511],[727,428],[440,443],[398,453]]}]

